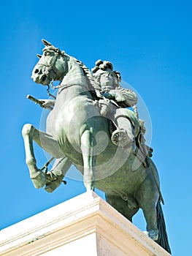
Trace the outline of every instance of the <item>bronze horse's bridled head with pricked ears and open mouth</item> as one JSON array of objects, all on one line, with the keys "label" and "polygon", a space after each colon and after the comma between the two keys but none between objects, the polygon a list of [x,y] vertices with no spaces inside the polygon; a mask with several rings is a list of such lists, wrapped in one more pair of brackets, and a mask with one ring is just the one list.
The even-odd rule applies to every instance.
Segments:
[{"label": "bronze horse's bridled head with pricked ears and open mouth", "polygon": [[55,48],[50,42],[42,39],[45,48],[42,56],[37,54],[39,61],[34,67],[31,78],[35,83],[47,85],[51,80],[62,80],[65,73],[64,51]]}]

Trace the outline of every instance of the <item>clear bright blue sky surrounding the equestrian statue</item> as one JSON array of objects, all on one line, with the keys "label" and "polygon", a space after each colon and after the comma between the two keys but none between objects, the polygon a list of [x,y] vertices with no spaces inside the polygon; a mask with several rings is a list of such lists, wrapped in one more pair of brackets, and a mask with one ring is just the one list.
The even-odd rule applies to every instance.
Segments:
[{"label": "clear bright blue sky surrounding the equestrian statue", "polygon": [[[1,3],[1,229],[85,192],[82,182],[66,178],[67,186],[48,194],[34,189],[28,175],[21,129],[38,128],[42,115],[26,95],[47,97],[30,78],[45,38],[89,68],[97,59],[112,61],[142,97],[172,253],[190,254],[191,7],[186,0]],[[45,154],[35,151],[41,167]],[[134,223],[145,230],[141,213]]]}]

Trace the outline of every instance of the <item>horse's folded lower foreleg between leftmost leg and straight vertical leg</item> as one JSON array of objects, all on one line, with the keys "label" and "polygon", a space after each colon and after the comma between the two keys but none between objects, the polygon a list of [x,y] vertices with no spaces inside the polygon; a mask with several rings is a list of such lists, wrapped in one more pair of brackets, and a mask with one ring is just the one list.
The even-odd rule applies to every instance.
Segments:
[{"label": "horse's folded lower foreleg between leftmost leg and straight vertical leg", "polygon": [[45,190],[47,192],[53,192],[62,183],[71,165],[72,162],[67,157],[55,159],[52,169],[46,174]]}]

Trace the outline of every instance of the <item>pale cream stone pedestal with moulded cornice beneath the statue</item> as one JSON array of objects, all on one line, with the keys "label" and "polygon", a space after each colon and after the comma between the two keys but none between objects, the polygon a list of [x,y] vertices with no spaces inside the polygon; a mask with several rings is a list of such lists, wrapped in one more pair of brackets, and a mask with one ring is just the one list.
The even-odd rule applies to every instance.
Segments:
[{"label": "pale cream stone pedestal with moulded cornice beneath the statue", "polygon": [[85,192],[0,232],[0,255],[168,256],[94,192]]}]

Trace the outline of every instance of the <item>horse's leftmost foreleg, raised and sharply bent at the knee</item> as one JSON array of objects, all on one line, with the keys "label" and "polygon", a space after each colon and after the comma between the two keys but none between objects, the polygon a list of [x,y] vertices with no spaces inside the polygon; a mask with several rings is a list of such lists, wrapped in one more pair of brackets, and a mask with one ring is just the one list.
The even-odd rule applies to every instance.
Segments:
[{"label": "horse's leftmost foreleg, raised and sharply bent at the knee", "polygon": [[39,189],[45,185],[46,178],[42,170],[37,168],[37,161],[34,157],[33,140],[35,140],[40,147],[44,148],[45,151],[52,154],[53,157],[61,158],[64,157],[64,154],[59,148],[58,142],[51,135],[40,132],[31,124],[24,125],[22,134],[26,149],[26,164],[28,165],[30,177],[34,187]]}]

